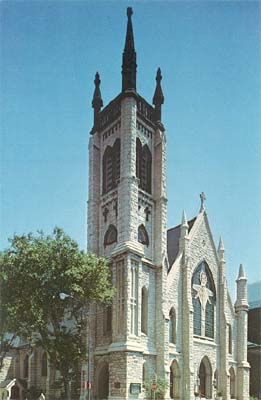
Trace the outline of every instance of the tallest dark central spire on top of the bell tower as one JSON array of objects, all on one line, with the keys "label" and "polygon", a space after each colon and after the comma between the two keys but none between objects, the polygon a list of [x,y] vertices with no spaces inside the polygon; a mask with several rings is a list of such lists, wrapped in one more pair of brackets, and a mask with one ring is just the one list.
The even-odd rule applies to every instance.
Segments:
[{"label": "tallest dark central spire on top of the bell tower", "polygon": [[127,32],[124,52],[122,55],[122,91],[134,90],[136,91],[136,51],[134,48],[134,36],[132,29],[131,16],[133,14],[132,8],[127,8]]}]

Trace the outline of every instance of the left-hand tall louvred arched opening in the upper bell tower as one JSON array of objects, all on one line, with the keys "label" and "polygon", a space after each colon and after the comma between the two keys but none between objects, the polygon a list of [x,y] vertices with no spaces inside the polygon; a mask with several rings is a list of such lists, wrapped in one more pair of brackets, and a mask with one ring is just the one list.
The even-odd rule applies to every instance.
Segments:
[{"label": "left-hand tall louvred arched opening in the upper bell tower", "polygon": [[107,146],[102,158],[102,193],[117,186],[120,178],[120,139],[116,139],[114,145]]}]

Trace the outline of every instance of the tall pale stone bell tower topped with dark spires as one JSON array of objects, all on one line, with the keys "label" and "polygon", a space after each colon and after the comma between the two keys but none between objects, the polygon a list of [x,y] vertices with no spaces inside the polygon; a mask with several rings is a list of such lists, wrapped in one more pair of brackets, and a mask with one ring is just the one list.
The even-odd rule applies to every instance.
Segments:
[{"label": "tall pale stone bell tower topped with dark spires", "polygon": [[88,376],[94,395],[110,399],[129,398],[147,369],[160,371],[156,352],[164,357],[164,340],[156,341],[164,328],[154,323],[167,274],[164,96],[160,69],[154,106],[137,92],[132,14],[128,7],[122,91],[102,108],[96,73],[89,140],[88,251],[110,260],[117,292],[111,307],[94,310]]}]

